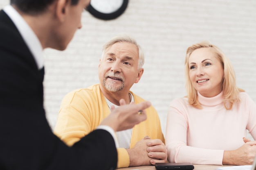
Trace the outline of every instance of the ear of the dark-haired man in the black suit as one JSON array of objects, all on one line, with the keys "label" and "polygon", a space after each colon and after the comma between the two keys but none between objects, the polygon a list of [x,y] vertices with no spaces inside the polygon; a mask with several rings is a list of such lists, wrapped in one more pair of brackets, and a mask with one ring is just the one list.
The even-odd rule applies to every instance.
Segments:
[{"label": "ear of the dark-haired man in the black suit", "polygon": [[65,15],[67,14],[68,5],[70,5],[70,0],[56,0],[56,16],[59,21],[63,22],[65,20]]}]

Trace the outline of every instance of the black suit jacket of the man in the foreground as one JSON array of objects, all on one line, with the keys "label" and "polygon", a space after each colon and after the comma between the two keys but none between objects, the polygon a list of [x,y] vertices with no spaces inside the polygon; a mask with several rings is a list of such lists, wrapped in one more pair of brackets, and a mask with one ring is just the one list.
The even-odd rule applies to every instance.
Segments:
[{"label": "black suit jacket of the man in the foreground", "polygon": [[72,147],[52,133],[43,109],[43,76],[16,26],[0,11],[0,169],[115,169],[117,150],[107,131],[95,130]]}]

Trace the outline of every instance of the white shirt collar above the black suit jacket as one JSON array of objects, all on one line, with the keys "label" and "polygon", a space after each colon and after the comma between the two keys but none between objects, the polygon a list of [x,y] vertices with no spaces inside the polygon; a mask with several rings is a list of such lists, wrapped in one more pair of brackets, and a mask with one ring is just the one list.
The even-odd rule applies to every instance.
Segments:
[{"label": "white shirt collar above the black suit jacket", "polygon": [[4,7],[4,12],[11,18],[22,38],[27,44],[30,52],[32,53],[38,70],[43,68],[43,47],[34,31],[30,28],[23,17],[11,6]]}]

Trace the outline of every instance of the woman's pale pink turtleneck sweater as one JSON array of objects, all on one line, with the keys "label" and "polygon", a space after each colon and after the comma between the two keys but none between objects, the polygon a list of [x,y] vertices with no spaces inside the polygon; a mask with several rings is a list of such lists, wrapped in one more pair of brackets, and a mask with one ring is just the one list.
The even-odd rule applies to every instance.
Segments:
[{"label": "woman's pale pink turtleneck sweater", "polygon": [[256,104],[245,92],[241,102],[227,110],[223,93],[206,98],[198,93],[203,109],[188,104],[187,98],[171,102],[166,124],[166,147],[170,162],[222,165],[224,150],[244,144],[246,129],[256,139]]}]

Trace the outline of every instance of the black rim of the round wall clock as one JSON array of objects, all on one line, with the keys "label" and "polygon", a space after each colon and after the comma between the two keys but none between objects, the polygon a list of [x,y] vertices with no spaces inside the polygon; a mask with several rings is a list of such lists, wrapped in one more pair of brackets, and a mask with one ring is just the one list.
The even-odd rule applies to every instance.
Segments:
[{"label": "black rim of the round wall clock", "polygon": [[101,20],[113,20],[113,19],[119,17],[122,13],[124,13],[127,6],[128,6],[128,0],[123,0],[123,4],[117,11],[112,12],[112,13],[101,13],[101,12],[97,11],[96,9],[94,9],[94,7],[92,7],[91,4],[89,4],[89,6],[87,7],[87,11],[90,14],[92,14],[94,17],[97,17]]}]

